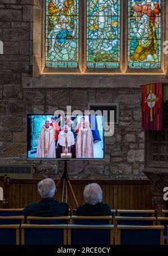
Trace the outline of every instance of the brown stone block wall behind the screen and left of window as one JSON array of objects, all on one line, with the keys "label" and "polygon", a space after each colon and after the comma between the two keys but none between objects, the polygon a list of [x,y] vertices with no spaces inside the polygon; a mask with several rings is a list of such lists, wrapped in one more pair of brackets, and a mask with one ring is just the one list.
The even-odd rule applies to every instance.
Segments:
[{"label": "brown stone block wall behind the screen and left of window", "polygon": [[139,85],[156,80],[165,82],[166,77],[41,75],[36,77],[34,86],[33,65],[41,52],[36,53],[40,49],[41,32],[35,33],[34,28],[40,28],[41,3],[41,0],[1,0],[0,41],[4,54],[0,55],[0,163],[34,163],[34,177],[60,177],[63,161],[26,159],[26,115],[53,114],[57,109],[66,110],[67,105],[72,105],[72,110],[85,110],[88,102],[114,102],[119,103],[119,124],[114,136],[105,140],[105,159],[69,161],[69,176],[144,179]]}]

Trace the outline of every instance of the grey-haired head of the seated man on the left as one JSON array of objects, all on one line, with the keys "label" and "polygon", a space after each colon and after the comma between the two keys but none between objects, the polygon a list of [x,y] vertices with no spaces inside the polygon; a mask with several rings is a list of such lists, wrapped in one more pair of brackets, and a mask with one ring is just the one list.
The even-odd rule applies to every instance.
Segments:
[{"label": "grey-haired head of the seated man on the left", "polygon": [[53,179],[43,179],[38,183],[38,191],[41,198],[54,197],[56,187]]}]

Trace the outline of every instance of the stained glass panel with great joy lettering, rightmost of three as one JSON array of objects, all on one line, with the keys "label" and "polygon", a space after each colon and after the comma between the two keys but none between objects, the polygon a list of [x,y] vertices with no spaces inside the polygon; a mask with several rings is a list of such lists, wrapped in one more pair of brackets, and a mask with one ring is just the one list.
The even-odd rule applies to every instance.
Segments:
[{"label": "stained glass panel with great joy lettering, rightmost of three", "polygon": [[161,0],[128,2],[129,68],[161,68]]}]

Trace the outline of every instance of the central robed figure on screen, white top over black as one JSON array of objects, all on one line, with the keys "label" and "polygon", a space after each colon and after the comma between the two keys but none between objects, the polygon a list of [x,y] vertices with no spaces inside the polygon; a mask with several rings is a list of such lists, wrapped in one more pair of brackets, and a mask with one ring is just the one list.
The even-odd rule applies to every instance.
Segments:
[{"label": "central robed figure on screen, white top over black", "polygon": [[68,125],[64,125],[63,130],[59,133],[56,155],[57,158],[62,158],[62,154],[71,153],[72,158],[75,158],[75,143],[74,135]]}]

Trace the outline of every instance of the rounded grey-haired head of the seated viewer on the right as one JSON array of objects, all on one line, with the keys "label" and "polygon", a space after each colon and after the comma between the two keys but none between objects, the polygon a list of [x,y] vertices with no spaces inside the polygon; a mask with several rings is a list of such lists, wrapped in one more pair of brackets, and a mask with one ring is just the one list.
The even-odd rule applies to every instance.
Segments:
[{"label": "rounded grey-haired head of the seated viewer on the right", "polygon": [[95,205],[102,202],[102,190],[97,183],[88,184],[83,192],[85,203]]}]

